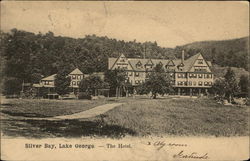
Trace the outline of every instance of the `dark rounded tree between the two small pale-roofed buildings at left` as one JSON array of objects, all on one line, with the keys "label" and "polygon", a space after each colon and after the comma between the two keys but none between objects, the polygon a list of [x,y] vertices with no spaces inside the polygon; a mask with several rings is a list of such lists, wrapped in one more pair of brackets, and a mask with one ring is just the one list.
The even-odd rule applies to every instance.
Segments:
[{"label": "dark rounded tree between the two small pale-roofed buildings at left", "polygon": [[69,93],[70,77],[68,77],[68,71],[65,69],[60,70],[55,78],[55,89],[59,95]]}]

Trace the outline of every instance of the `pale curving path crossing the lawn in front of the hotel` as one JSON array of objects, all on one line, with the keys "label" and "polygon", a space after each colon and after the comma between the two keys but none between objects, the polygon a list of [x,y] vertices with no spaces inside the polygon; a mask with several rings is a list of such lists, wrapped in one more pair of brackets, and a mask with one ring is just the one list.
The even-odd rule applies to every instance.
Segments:
[{"label": "pale curving path crossing the lawn in front of the hotel", "polygon": [[122,105],[123,103],[112,103],[112,104],[105,104],[101,106],[94,107],[92,109],[74,113],[71,115],[62,115],[62,116],[55,116],[55,117],[46,117],[46,118],[37,118],[37,117],[14,117],[8,116],[8,118],[12,119],[24,119],[24,120],[71,120],[71,119],[82,119],[82,118],[91,118],[101,114],[106,113],[107,111]]}]

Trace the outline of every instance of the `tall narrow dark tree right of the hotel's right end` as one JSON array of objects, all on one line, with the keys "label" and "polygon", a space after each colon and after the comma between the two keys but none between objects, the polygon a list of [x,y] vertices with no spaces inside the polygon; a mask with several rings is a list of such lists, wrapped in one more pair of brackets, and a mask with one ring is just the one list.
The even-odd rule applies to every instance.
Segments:
[{"label": "tall narrow dark tree right of the hotel's right end", "polygon": [[225,97],[227,98],[228,102],[232,102],[235,93],[239,90],[234,71],[231,68],[228,68],[224,78]]}]

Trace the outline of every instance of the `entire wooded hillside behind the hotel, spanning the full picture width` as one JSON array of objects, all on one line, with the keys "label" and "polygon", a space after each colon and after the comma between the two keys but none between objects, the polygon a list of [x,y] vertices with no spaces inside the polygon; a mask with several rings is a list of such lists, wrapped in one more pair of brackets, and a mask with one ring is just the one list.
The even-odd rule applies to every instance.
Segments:
[{"label": "entire wooded hillside behind the hotel, spanning the full picture width", "polygon": [[84,73],[105,71],[108,57],[117,57],[120,53],[127,57],[174,59],[185,49],[186,57],[201,51],[207,60],[220,66],[247,69],[248,62],[248,38],[196,42],[171,49],[160,47],[156,42],[125,42],[95,35],[75,39],[55,36],[52,32],[34,34],[17,29],[0,35],[1,78],[19,83],[35,83],[61,68],[70,71],[78,67]]}]

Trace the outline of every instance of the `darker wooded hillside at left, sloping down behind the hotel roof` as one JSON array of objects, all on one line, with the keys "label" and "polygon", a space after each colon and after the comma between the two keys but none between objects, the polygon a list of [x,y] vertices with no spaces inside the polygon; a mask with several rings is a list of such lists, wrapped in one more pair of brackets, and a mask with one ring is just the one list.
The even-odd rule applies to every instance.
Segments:
[{"label": "darker wooded hillside at left, sloping down behind the hotel roof", "polygon": [[108,69],[108,57],[125,53],[128,57],[169,58],[173,49],[159,47],[156,42],[120,41],[88,35],[84,38],[54,36],[52,32],[34,34],[17,29],[1,32],[1,58],[8,78],[37,82],[42,76],[78,67],[84,73]]}]

